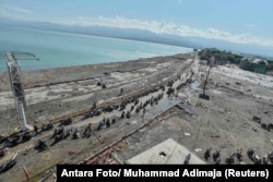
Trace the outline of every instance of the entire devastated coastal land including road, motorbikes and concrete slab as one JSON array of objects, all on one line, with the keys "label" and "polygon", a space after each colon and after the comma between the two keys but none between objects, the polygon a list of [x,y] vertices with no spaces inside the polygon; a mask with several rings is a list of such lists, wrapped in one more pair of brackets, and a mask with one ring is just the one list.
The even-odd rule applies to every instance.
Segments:
[{"label": "entire devastated coastal land including road, motorbikes and concrete slab", "polygon": [[27,131],[1,73],[0,179],[54,181],[57,163],[273,163],[273,77],[234,58],[23,72]]}]

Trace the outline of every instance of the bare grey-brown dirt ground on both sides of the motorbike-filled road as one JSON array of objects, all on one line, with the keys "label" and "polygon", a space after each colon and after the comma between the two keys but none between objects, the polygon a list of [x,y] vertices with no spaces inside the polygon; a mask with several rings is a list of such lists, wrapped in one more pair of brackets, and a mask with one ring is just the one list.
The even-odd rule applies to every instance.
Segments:
[{"label": "bare grey-brown dirt ground on both sides of the motorbike-filled road", "polygon": [[[191,68],[182,70],[192,60],[194,63]],[[128,72],[120,72],[123,71],[123,66]],[[207,147],[212,147],[212,151],[219,148],[222,163],[225,163],[224,159],[238,148],[242,148],[242,162],[245,163],[253,163],[247,157],[249,147],[252,147],[260,157],[273,150],[273,130],[264,130],[261,124],[252,120],[256,116],[261,118],[262,123],[273,123],[273,77],[271,76],[241,71],[235,66],[217,65],[211,69],[206,86],[206,95],[210,96],[210,100],[205,100],[201,99],[199,94],[202,93],[201,87],[207,68],[200,64],[194,54],[159,57],[128,62],[128,64],[93,65],[90,71],[82,71],[79,75],[74,70],[69,72],[68,70],[66,74],[60,71],[55,72],[56,75],[59,75],[58,82],[66,81],[68,73],[76,75],[70,75],[69,80],[86,78],[91,76],[92,70],[95,70],[96,74],[93,75],[92,72],[94,77],[91,80],[58,85],[48,85],[48,82],[52,83],[50,80],[47,81],[46,86],[41,86],[45,83],[39,84],[39,82],[34,82],[35,80],[31,82],[31,78],[26,78],[28,81],[26,84],[28,88],[26,89],[27,104],[31,102],[26,114],[29,123],[43,122],[62,113],[90,107],[94,100],[104,102],[117,98],[121,87],[127,94],[152,84],[156,85],[167,77],[175,77],[179,74],[181,78],[175,82],[174,87],[176,88],[189,77],[190,71],[194,71],[194,74],[193,82],[183,86],[179,90],[178,97],[167,97],[165,90],[164,98],[158,105],[149,106],[144,117],[141,117],[141,113],[133,113],[130,119],[119,119],[121,112],[117,110],[86,120],[82,120],[82,117],[73,119],[73,129],[80,128],[83,131],[88,123],[95,128],[103,117],[116,118],[117,122],[110,128],[96,132],[98,138],[92,135],[90,138],[72,141],[70,137],[50,146],[46,151],[37,153],[34,146],[38,138],[45,139],[48,145],[52,143],[50,138],[52,131],[50,131],[35,136],[27,143],[9,148],[10,155],[19,153],[17,163],[10,171],[0,174],[0,181],[26,180],[23,167],[33,177],[32,180],[37,181],[45,175],[47,169],[56,163],[79,163],[117,141],[120,141],[118,145],[121,147],[118,154],[122,160],[128,160],[167,138],[174,138],[201,159]],[[44,71],[44,77],[49,72],[52,76],[52,71]],[[111,73],[105,74],[105,72]],[[38,75],[38,72],[35,74]],[[27,75],[32,77],[31,74]],[[96,75],[99,75],[102,80]],[[98,81],[106,83],[107,88],[96,86]],[[40,87],[32,88],[31,85],[37,84]],[[157,90],[140,99],[144,102],[161,93],[163,92]],[[7,92],[3,90],[0,94],[3,96],[1,99],[11,99],[8,86]],[[33,98],[29,97],[31,95]],[[41,95],[46,97],[43,98]],[[0,122],[3,128],[1,126],[0,130],[2,133],[13,130],[20,124],[15,111],[9,109],[12,107],[12,101],[7,102],[2,107],[5,109],[1,110]],[[132,104],[128,105],[126,110],[131,106]],[[150,124],[138,130],[145,123]],[[124,138],[135,130],[138,130],[135,133]],[[210,159],[207,163],[213,163],[213,161]],[[239,161],[236,160],[236,163]]]}]

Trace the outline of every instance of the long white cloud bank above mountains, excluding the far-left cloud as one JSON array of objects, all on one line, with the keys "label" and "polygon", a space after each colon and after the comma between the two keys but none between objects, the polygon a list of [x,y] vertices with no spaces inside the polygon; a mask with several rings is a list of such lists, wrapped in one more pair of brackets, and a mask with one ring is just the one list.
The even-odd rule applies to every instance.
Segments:
[{"label": "long white cloud bank above mountains, excluding the far-left cloud", "polygon": [[174,22],[158,22],[158,21],[139,21],[135,19],[126,19],[123,16],[116,17],[83,17],[79,16],[71,20],[62,20],[58,23],[67,25],[81,25],[81,26],[109,26],[119,28],[139,28],[153,32],[155,34],[169,34],[178,36],[197,36],[203,38],[212,38],[218,40],[225,40],[237,44],[254,44],[261,46],[272,46],[273,39],[266,39],[262,37],[254,37],[251,33],[236,35],[229,32],[207,28],[198,29],[185,25],[177,25]]}]

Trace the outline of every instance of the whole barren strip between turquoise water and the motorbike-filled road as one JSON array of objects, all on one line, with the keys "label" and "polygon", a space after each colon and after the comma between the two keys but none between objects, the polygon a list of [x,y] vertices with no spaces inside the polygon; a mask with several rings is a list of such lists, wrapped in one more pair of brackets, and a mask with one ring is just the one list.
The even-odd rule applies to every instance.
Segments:
[{"label": "whole barren strip between turquoise water and the motorbike-filled road", "polygon": [[[118,63],[24,72],[26,119],[31,123],[50,120],[51,117],[71,111],[73,108],[90,107],[94,99],[98,99],[99,102],[106,100],[112,93],[118,95],[121,87],[126,87],[126,92],[140,89],[140,87],[168,77],[174,73],[174,69],[178,69],[174,68],[176,62],[182,64],[190,57],[190,53],[181,53]],[[1,78],[3,80],[2,76]],[[100,80],[106,84],[106,89],[97,86]],[[8,128],[14,128],[20,120],[15,113],[8,75],[5,83],[0,82],[0,84],[7,88],[3,90],[3,87],[0,87],[2,89],[0,92],[0,112],[2,113],[0,120],[9,122]],[[59,106],[60,104],[62,107]]]}]

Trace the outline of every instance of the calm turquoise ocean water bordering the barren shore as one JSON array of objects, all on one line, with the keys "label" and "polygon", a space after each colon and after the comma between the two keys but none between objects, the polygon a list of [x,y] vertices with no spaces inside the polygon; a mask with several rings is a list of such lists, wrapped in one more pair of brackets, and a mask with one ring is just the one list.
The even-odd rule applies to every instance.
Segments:
[{"label": "calm turquoise ocean water bordering the barren shore", "polygon": [[[39,61],[19,59],[24,71],[129,61],[192,52],[192,49],[82,34],[0,27],[0,51],[34,53]],[[0,72],[5,70],[5,61],[1,59]]]}]

